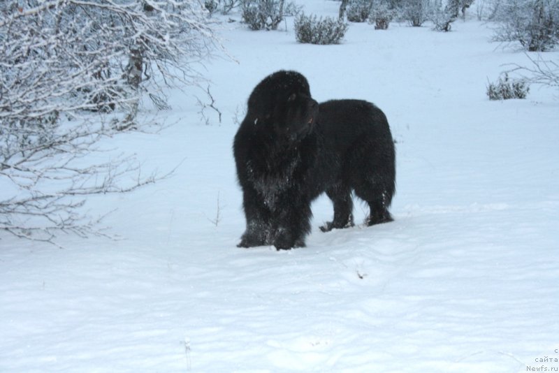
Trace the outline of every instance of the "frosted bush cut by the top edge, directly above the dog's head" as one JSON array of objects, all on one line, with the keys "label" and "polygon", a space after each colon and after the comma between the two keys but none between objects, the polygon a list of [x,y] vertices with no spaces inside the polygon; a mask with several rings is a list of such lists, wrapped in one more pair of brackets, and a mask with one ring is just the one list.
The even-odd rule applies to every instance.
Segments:
[{"label": "frosted bush cut by the top edge, directly above the dog's head", "polygon": [[275,30],[286,15],[295,15],[299,8],[285,0],[241,0],[242,21],[252,30]]}]

